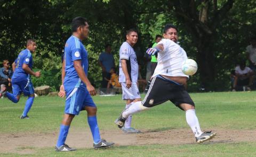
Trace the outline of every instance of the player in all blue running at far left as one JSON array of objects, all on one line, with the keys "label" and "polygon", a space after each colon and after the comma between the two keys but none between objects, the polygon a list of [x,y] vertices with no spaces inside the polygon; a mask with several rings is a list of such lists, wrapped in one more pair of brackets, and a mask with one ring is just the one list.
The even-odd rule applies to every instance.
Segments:
[{"label": "player in all blue running at far left", "polygon": [[[35,98],[33,84],[30,80],[30,75],[40,77],[40,71],[34,72],[32,70],[33,57],[31,53],[36,50],[36,42],[34,39],[27,40],[27,48],[22,50],[15,62],[13,63],[12,75],[12,93],[6,92],[6,97],[12,102],[17,103],[20,100],[20,94],[28,96],[25,109],[20,116],[20,119],[29,119],[27,115]],[[6,88],[4,89],[4,91]]]}]

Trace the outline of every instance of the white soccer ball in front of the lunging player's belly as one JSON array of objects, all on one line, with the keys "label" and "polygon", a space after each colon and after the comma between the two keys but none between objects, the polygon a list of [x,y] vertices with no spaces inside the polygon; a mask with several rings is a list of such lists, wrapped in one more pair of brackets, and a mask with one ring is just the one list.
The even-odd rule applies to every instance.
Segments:
[{"label": "white soccer ball in front of the lunging player's belly", "polygon": [[197,71],[197,64],[193,59],[187,59],[182,64],[181,70],[186,75],[194,75]]}]

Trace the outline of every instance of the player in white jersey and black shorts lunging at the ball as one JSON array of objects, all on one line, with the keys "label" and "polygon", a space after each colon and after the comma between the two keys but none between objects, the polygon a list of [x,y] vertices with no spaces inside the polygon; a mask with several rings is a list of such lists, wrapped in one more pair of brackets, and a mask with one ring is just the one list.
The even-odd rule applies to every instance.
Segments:
[{"label": "player in white jersey and black shorts lunging at the ball", "polygon": [[176,42],[178,40],[177,28],[172,24],[166,24],[163,33],[164,39],[154,48],[149,48],[147,54],[158,53],[158,64],[153,74],[148,93],[141,102],[135,102],[125,109],[115,123],[122,128],[126,118],[137,112],[148,110],[168,100],[175,106],[186,112],[186,120],[196,137],[197,143],[212,139],[216,133],[202,132],[195,112],[195,104],[184,88],[189,78],[181,71],[181,65],[187,59],[186,51]]}]

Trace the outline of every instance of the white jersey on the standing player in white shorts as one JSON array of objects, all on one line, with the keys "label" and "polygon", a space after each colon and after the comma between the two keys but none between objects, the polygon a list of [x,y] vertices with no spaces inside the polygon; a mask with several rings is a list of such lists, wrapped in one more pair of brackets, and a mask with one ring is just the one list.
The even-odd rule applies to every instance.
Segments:
[{"label": "white jersey on the standing player in white shorts", "polygon": [[126,78],[122,69],[121,59],[126,59],[126,65],[131,82],[138,81],[139,65],[135,51],[128,42],[123,42],[119,50],[119,82],[126,82]]}]

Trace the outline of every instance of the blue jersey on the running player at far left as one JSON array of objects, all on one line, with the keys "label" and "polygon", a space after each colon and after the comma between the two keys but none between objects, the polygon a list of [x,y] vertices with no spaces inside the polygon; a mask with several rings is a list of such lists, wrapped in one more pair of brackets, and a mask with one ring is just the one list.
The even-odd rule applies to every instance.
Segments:
[{"label": "blue jersey on the running player at far left", "polygon": [[20,82],[30,79],[29,74],[26,73],[22,68],[23,64],[27,64],[29,68],[32,69],[33,57],[28,49],[22,50],[18,58],[15,60],[16,66],[12,75],[12,82]]}]

